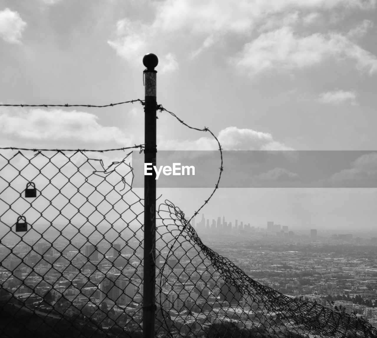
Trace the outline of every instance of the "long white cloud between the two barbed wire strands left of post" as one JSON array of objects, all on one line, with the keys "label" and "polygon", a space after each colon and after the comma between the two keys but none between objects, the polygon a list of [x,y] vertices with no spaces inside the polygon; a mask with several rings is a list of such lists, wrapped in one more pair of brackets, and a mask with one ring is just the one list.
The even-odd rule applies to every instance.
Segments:
[{"label": "long white cloud between the two barbed wire strands left of post", "polygon": [[[94,114],[61,109],[30,109],[29,111],[0,112],[1,138],[22,141],[23,144],[80,143],[129,146],[127,138],[117,127],[102,126]],[[77,148],[77,146],[76,146]]]}]

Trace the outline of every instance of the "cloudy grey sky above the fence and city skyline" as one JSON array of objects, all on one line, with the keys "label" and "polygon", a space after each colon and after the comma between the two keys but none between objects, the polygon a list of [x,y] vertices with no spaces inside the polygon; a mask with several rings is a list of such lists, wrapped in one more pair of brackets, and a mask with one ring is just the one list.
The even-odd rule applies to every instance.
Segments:
[{"label": "cloudy grey sky above the fence and city skyline", "polygon": [[[143,98],[142,58],[153,52],[158,103],[210,128],[224,149],[371,151],[344,168],[360,177],[367,168],[370,180],[377,177],[376,14],[375,0],[0,0],[0,103]],[[143,130],[139,103],[0,108],[0,146],[106,149],[143,143]],[[214,143],[159,113],[158,147]],[[208,195],[165,192],[187,214]],[[370,229],[376,201],[376,190],[365,188],[224,188],[203,212],[255,226]]]}]

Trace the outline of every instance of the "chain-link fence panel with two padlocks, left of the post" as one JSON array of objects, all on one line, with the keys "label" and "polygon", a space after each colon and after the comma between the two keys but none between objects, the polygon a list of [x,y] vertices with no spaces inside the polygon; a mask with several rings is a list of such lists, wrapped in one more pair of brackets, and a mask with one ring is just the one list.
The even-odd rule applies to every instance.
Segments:
[{"label": "chain-link fence panel with two padlocks, left of the post", "polygon": [[3,335],[141,335],[144,206],[122,154],[2,151]]}]

